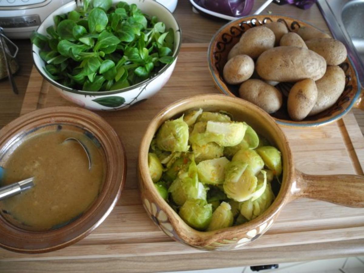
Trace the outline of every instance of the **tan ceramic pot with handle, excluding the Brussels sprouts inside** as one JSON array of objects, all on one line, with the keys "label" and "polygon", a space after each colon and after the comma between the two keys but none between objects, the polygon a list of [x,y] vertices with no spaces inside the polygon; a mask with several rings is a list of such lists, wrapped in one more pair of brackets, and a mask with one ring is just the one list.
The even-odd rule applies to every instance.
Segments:
[{"label": "tan ceramic pot with handle, excluding the Brussels sprouts inside", "polygon": [[[234,120],[246,121],[282,153],[282,185],[273,204],[262,215],[240,226],[200,232],[188,226],[153,185],[148,169],[148,151],[158,128],[168,119],[188,110],[227,111]],[[364,207],[364,176],[307,175],[296,170],[288,140],[266,112],[242,99],[225,95],[199,95],[179,100],[159,112],[150,122],[139,149],[139,185],[145,210],[153,222],[174,240],[202,250],[234,249],[265,233],[286,203],[300,197],[320,199],[349,207]],[[364,212],[364,210],[363,210]]]}]

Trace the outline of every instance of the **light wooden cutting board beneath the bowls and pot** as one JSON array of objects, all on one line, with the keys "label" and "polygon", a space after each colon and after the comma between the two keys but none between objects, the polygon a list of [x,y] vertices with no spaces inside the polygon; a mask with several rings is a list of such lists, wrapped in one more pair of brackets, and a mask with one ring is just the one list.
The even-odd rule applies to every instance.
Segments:
[{"label": "light wooden cutting board beneath the bowls and pot", "polygon": [[[54,87],[43,80],[33,68],[21,114],[44,107],[74,105],[64,100],[53,89]],[[229,266],[221,260],[221,263],[216,265],[198,267],[199,257],[204,257],[206,253],[174,242],[159,230],[141,205],[136,176],[139,142],[154,115],[168,104],[186,96],[218,92],[207,66],[207,44],[183,44],[173,75],[158,94],[127,110],[98,112],[114,127],[122,139],[128,165],[126,186],[118,205],[102,225],[75,245],[51,253],[27,255],[0,249],[0,261],[16,263],[64,259],[82,260],[87,263],[87,260],[91,262],[97,258],[132,259],[135,256],[144,257],[145,260],[150,259],[147,256],[163,257],[164,260],[168,260],[169,257],[175,259],[176,254],[179,258],[183,258],[184,255],[187,257],[189,253],[195,253],[193,256],[195,260],[191,261],[194,262],[195,268]],[[290,141],[297,169],[308,174],[363,175],[364,138],[352,113],[324,127],[283,128],[283,130]],[[291,246],[297,245],[323,242],[334,244],[334,241],[358,239],[364,239],[363,209],[300,199],[289,203],[282,210],[277,221],[264,236],[241,250],[230,251],[229,256],[239,254],[241,257],[249,257],[249,253],[252,255],[254,251],[259,253],[256,250],[263,253],[264,249],[277,247],[282,257],[284,255],[288,257],[294,253],[284,253],[279,246],[286,246],[288,250]],[[361,252],[364,252],[363,248]],[[312,253],[317,255],[316,252]],[[349,254],[343,253],[343,255]],[[218,262],[219,257],[224,257],[222,253],[216,255]],[[139,267],[119,268],[118,271],[136,272],[143,271],[141,270],[143,268],[144,271],[148,270],[147,265],[143,267],[142,261],[143,259],[139,259],[138,262],[134,262]],[[255,257],[254,263],[264,262],[265,260],[257,260]],[[250,265],[252,263],[250,260]],[[242,264],[244,262],[240,262],[240,265]],[[230,266],[233,265],[232,263]],[[165,269],[173,268],[169,268],[166,264]]]}]

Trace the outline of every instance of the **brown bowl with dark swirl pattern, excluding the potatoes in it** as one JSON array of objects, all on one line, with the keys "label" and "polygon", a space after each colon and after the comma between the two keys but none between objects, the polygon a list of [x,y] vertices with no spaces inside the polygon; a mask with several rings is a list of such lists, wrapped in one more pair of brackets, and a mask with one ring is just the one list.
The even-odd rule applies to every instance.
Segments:
[{"label": "brown bowl with dark swirl pattern, excluding the potatoes in it", "polygon": [[[241,35],[245,31],[271,22],[284,23],[290,32],[297,32],[303,26],[314,27],[302,20],[281,15],[245,16],[224,25],[212,38],[207,57],[212,78],[220,92],[229,96],[239,96],[239,85],[227,84],[222,76],[223,67],[227,62],[227,54],[238,43]],[[317,115],[309,116],[302,121],[291,120],[286,110],[286,96],[293,86],[293,83],[278,84],[276,87],[283,92],[284,103],[280,110],[272,114],[277,123],[293,127],[320,126],[342,118],[352,107],[364,110],[364,90],[360,87],[358,75],[353,67],[352,60],[348,57],[344,63],[340,64],[340,67],[344,70],[346,76],[343,94],[341,94],[337,102],[329,109]]]}]

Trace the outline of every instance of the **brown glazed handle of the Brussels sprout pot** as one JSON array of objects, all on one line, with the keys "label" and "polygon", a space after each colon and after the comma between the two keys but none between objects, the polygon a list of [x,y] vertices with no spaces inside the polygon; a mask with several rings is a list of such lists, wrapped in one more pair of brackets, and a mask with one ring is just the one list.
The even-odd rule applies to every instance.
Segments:
[{"label": "brown glazed handle of the Brussels sprout pot", "polygon": [[296,170],[292,199],[307,197],[347,207],[364,207],[364,176],[310,175]]}]

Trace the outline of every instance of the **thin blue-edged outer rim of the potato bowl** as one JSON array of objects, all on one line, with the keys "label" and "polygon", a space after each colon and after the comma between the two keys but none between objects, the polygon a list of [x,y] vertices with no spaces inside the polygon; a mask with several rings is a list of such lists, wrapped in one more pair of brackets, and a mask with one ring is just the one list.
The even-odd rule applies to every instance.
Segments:
[{"label": "thin blue-edged outer rim of the potato bowl", "polygon": [[[237,21],[244,21],[246,19],[250,19],[250,21],[251,21],[253,19],[256,19],[257,21],[259,21],[261,23],[264,19],[271,19],[271,17],[289,18],[289,19],[294,20],[294,21],[297,21],[297,22],[305,23],[305,24],[307,24],[307,25],[309,25],[309,26],[311,26],[311,27],[313,27],[313,28],[321,31],[321,29],[315,27],[314,25],[308,23],[305,20],[296,19],[296,18],[293,18],[293,17],[290,17],[290,16],[281,15],[281,14],[247,15],[247,16],[240,17],[240,18],[238,18],[238,19],[236,19],[234,21],[230,21],[229,23],[226,23],[221,28],[219,28],[219,30],[214,34],[214,36],[212,37],[212,39],[210,41],[209,48],[207,50],[207,59],[208,59],[208,63],[209,63],[209,71],[210,71],[210,74],[211,74],[211,76],[214,79],[215,85],[218,86],[219,91],[222,92],[223,94],[225,94],[227,96],[232,96],[231,92],[230,91],[226,91],[225,88],[219,83],[219,78],[217,78],[217,76],[215,75],[215,70],[214,70],[213,64],[211,63],[210,56],[211,56],[211,53],[212,53],[212,50],[213,50],[212,47],[213,47],[214,42],[216,41],[217,37],[221,34],[221,32],[223,31],[224,28],[226,28],[228,25],[234,25]],[[259,18],[262,18],[262,19],[259,19]],[[323,32],[323,31],[321,31],[321,32]],[[359,98],[360,93],[361,93],[361,85],[360,85],[360,82],[359,82],[358,73],[357,73],[357,71],[355,69],[355,66],[353,65],[353,61],[352,61],[352,59],[351,59],[351,57],[349,55],[347,55],[347,59],[349,60],[351,66],[353,68],[353,71],[355,73],[355,79],[352,79],[352,80],[355,80],[356,81],[356,83],[357,83],[357,90],[355,92],[355,95],[352,98],[351,103],[342,112],[340,112],[339,114],[337,114],[335,116],[332,116],[331,118],[328,118],[328,119],[325,119],[325,120],[322,120],[322,121],[318,121],[318,122],[309,122],[309,123],[307,123],[306,120],[301,120],[299,122],[295,122],[293,120],[279,119],[279,118],[276,118],[274,116],[271,116],[271,117],[278,124],[283,125],[283,126],[286,126],[286,127],[317,127],[317,126],[322,126],[322,125],[326,125],[326,124],[329,124],[331,122],[334,122],[334,121],[342,118],[344,115],[346,115],[351,110],[351,108],[354,106],[354,104],[356,103],[356,101]],[[235,96],[235,95],[234,95],[234,97],[236,97],[238,99],[242,99],[242,98],[239,98],[238,96]]]}]

